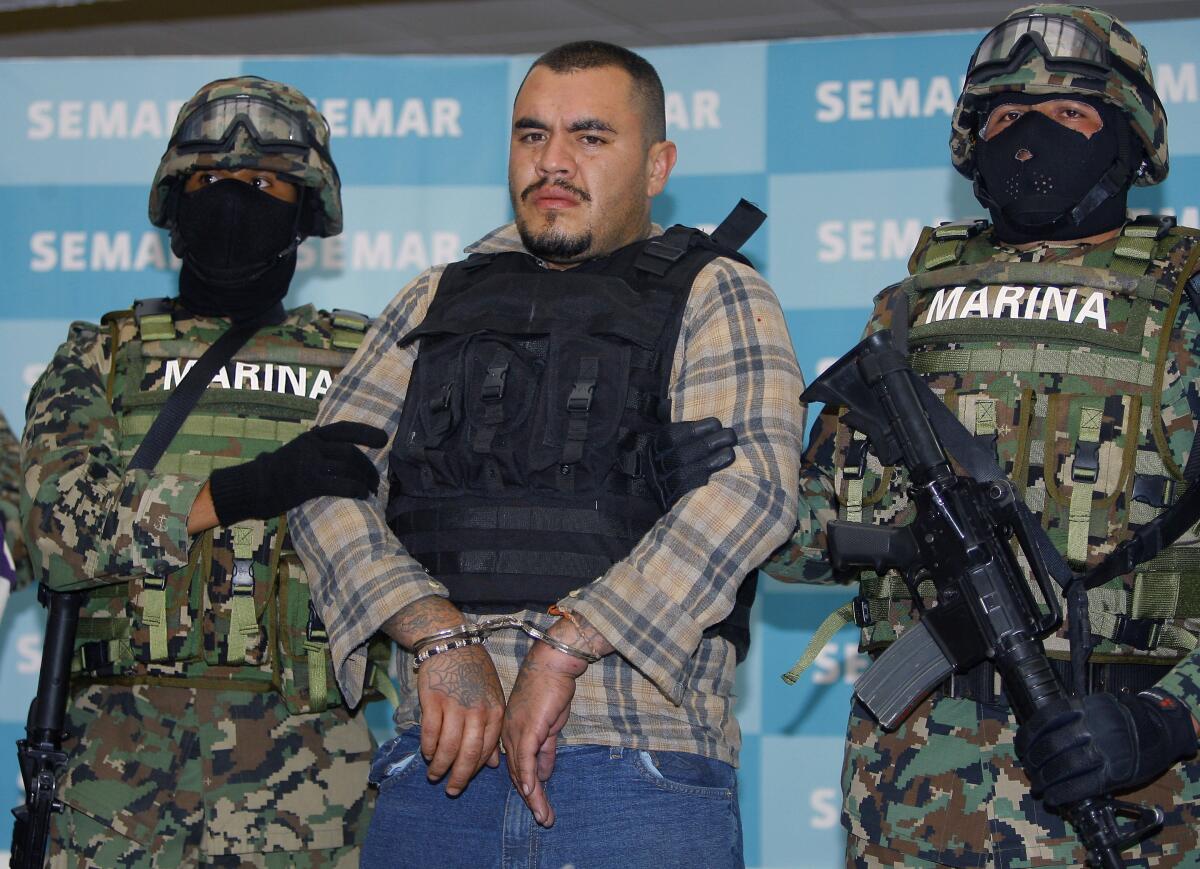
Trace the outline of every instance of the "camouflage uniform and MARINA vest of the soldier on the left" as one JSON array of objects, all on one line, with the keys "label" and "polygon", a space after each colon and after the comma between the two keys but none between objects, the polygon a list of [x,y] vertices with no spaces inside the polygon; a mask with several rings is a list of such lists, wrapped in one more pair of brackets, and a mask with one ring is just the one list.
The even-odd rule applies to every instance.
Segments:
[{"label": "camouflage uniform and MARINA vest of the soldier on the left", "polygon": [[[295,94],[236,82],[228,88],[238,92]],[[160,224],[174,194],[162,179],[187,174],[170,168],[176,157],[169,149],[151,197]],[[331,164],[323,170],[328,179]],[[336,208],[317,205],[323,233],[341,226],[332,196]],[[156,301],[72,324],[26,410],[23,513],[35,574],[54,589],[89,591],[52,864],[348,869],[370,821],[374,745],[337,690],[286,519],[196,537],[186,525],[214,469],[311,425],[366,319],[304,306],[264,326],[155,469],[126,471],[190,362],[229,328]]]}]

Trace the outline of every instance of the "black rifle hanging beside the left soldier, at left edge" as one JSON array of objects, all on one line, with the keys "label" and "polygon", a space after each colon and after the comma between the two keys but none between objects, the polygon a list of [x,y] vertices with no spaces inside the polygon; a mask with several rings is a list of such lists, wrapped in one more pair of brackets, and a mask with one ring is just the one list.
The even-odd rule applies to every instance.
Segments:
[{"label": "black rifle hanging beside the left soldier, at left edge", "polygon": [[41,869],[46,863],[50,814],[62,811],[62,803],[54,791],[67,763],[62,751],[62,724],[79,607],[86,594],[52,592],[46,586],[38,586],[37,598],[49,606],[50,613],[46,621],[37,696],[29,705],[25,738],[17,741],[17,762],[25,783],[25,802],[12,810],[17,820],[12,827],[8,865],[14,869]]}]

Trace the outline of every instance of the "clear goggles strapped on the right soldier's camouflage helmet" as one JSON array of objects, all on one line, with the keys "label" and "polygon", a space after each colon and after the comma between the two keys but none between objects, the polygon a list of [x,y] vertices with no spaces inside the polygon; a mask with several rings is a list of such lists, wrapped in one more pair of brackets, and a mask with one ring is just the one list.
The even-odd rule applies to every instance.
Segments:
[{"label": "clear goggles strapped on the right soldier's camouflage helmet", "polygon": [[971,55],[967,83],[1015,72],[1031,46],[1037,48],[1048,65],[1068,72],[1076,68],[1085,73],[1096,71],[1104,77],[1117,72],[1136,90],[1159,102],[1154,88],[1140,71],[1114,54],[1104,40],[1069,16],[1034,13],[996,25]]}]

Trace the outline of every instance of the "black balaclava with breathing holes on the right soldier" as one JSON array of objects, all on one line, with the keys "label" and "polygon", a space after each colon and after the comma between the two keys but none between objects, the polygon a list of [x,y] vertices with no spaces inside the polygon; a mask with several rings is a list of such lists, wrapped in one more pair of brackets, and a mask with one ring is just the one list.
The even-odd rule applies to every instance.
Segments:
[{"label": "black balaclava with breathing holes on the right soldier", "polygon": [[[1003,241],[1066,241],[1108,232],[1126,220],[1126,198],[1141,150],[1124,115],[1094,97],[1001,94],[986,112],[1016,103],[1075,100],[1097,109],[1104,126],[1091,138],[1039,112],[976,143],[976,198]],[[986,114],[984,114],[986,118]],[[1028,156],[1018,160],[1016,155]]]}]

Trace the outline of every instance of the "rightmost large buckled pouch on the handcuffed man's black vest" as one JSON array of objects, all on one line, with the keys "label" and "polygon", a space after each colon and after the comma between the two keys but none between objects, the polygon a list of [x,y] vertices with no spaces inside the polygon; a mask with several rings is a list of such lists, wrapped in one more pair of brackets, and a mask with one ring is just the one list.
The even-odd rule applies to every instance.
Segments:
[{"label": "rightmost large buckled pouch on the handcuffed man's black vest", "polygon": [[539,420],[530,448],[540,491],[590,492],[617,463],[635,352],[616,335],[559,334],[551,340]]}]

